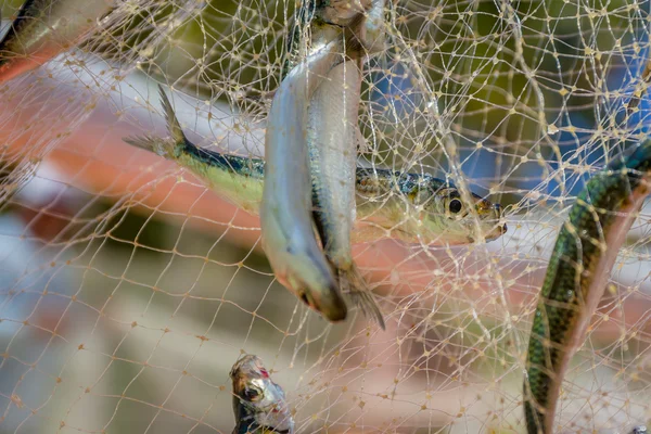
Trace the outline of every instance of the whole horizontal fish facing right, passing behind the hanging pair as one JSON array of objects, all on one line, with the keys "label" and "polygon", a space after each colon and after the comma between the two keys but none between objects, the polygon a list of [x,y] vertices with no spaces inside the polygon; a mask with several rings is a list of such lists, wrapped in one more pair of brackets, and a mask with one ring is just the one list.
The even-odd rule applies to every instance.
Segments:
[{"label": "whole horizontal fish facing right, passing behind the hanging pair", "polygon": [[[177,163],[219,196],[258,215],[265,161],[222,154],[190,142],[162,87],[159,92],[170,137],[129,137],[125,142]],[[474,203],[468,206],[455,186],[427,174],[358,166],[355,190],[353,243],[394,238],[426,245],[463,245],[496,240],[507,232],[499,204],[473,193]],[[475,233],[475,216],[480,233]]]}]

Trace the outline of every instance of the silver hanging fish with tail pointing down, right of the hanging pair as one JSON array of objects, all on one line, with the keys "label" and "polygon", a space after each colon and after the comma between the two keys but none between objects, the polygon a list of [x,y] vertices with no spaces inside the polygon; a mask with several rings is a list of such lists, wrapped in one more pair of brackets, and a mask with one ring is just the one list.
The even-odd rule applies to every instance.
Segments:
[{"label": "silver hanging fish with tail pointing down, right of the hanging pair", "polygon": [[340,289],[385,329],[382,312],[353,261],[358,112],[361,71],[355,61],[332,68],[308,108],[308,146],[315,222]]}]

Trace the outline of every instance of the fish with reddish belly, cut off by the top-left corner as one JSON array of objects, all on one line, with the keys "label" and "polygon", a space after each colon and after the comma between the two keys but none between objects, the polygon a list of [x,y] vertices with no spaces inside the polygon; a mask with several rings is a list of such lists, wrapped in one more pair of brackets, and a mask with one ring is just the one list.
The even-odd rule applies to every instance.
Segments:
[{"label": "fish with reddish belly, cut off by the top-left corner", "polygon": [[27,0],[0,42],[0,82],[77,46],[116,0]]}]

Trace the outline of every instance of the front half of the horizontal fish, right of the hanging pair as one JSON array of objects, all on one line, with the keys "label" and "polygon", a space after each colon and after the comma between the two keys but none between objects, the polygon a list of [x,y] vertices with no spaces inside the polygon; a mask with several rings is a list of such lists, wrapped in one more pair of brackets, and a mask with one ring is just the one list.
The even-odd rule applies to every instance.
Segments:
[{"label": "front half of the horizontal fish, right of the hanging pair", "polygon": [[[465,204],[450,182],[427,174],[357,168],[355,240],[393,238],[425,245],[467,245],[507,232],[499,204],[472,193]],[[478,228],[477,228],[478,222]]]}]

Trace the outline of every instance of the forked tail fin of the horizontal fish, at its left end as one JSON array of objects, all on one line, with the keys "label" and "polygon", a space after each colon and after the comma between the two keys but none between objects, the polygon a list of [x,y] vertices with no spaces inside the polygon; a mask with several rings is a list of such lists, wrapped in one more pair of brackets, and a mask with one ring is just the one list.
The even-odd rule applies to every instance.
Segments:
[{"label": "forked tail fin of the horizontal fish, at its left end", "polygon": [[165,158],[174,159],[186,146],[188,139],[181,129],[181,124],[179,124],[179,119],[171,106],[171,102],[161,85],[158,85],[158,92],[161,92],[161,104],[163,104],[167,129],[169,130],[170,137],[159,138],[155,136],[139,136],[127,137],[123,140],[130,145],[153,152]]}]

